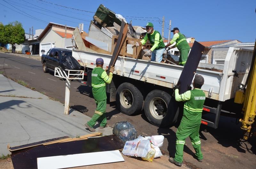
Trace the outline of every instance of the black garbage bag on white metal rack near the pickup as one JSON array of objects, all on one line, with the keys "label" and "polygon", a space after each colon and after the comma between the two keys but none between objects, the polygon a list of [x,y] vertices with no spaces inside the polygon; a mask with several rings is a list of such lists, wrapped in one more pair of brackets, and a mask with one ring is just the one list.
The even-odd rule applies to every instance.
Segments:
[{"label": "black garbage bag on white metal rack near the pickup", "polygon": [[77,60],[71,56],[65,56],[63,60],[59,62],[59,67],[61,67],[63,70],[68,69],[68,70],[80,70],[81,65],[77,62]]}]

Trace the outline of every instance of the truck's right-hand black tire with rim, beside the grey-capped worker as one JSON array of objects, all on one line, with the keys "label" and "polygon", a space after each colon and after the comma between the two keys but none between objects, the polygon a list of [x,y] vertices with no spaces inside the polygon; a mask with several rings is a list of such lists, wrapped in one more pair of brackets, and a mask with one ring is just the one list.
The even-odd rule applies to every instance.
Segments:
[{"label": "truck's right-hand black tire with rim, beside the grey-capped worker", "polygon": [[146,96],[144,111],[151,124],[157,127],[170,127],[177,121],[178,107],[175,98],[170,94],[153,90]]}]

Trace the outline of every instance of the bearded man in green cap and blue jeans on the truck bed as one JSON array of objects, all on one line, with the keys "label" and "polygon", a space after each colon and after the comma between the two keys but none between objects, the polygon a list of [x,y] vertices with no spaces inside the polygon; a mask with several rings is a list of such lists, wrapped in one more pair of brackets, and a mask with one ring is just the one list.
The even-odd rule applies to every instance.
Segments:
[{"label": "bearded man in green cap and blue jeans on the truck bed", "polygon": [[151,61],[161,62],[165,51],[163,38],[158,31],[154,30],[154,26],[150,22],[146,24],[146,30],[146,36],[139,43],[133,44],[132,48],[144,45],[148,40],[153,46],[143,56],[148,56],[152,52]]}]

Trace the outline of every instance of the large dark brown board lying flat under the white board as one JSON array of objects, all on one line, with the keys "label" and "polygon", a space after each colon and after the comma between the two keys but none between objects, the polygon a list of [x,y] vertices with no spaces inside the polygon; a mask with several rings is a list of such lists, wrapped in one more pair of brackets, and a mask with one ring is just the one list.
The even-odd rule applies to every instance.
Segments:
[{"label": "large dark brown board lying flat under the white board", "polygon": [[37,158],[49,156],[64,156],[100,151],[122,149],[124,143],[115,135],[92,137],[66,143],[39,145],[36,147],[15,151],[11,155],[14,169],[37,168]]}]

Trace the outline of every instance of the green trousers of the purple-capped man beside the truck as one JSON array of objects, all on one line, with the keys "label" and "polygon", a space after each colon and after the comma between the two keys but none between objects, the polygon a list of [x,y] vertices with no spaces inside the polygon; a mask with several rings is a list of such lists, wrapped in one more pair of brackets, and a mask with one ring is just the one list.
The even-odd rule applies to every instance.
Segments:
[{"label": "green trousers of the purple-capped man beside the truck", "polygon": [[97,121],[100,121],[100,126],[105,127],[107,125],[107,118],[106,118],[106,108],[107,108],[107,99],[100,100],[96,102],[96,110],[92,116],[92,119],[87,122],[90,127],[93,127]]}]

